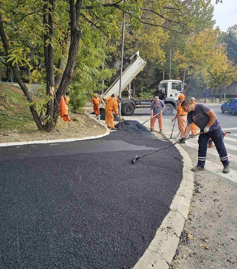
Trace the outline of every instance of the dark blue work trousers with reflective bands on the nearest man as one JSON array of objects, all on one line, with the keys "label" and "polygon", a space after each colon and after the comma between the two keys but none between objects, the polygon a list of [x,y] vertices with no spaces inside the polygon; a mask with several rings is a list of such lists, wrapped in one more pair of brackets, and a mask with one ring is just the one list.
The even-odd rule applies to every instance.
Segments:
[{"label": "dark blue work trousers with reflective bands on the nearest man", "polygon": [[[200,132],[203,132],[201,130]],[[200,167],[204,167],[205,161],[207,158],[207,144],[208,140],[211,137],[213,140],[215,147],[219,153],[220,160],[224,166],[229,165],[228,161],[228,155],[227,151],[223,142],[223,136],[222,136],[222,130],[221,127],[218,129],[215,129],[211,132],[205,133],[205,134],[200,134],[199,139],[198,139],[198,163],[197,165]]]}]

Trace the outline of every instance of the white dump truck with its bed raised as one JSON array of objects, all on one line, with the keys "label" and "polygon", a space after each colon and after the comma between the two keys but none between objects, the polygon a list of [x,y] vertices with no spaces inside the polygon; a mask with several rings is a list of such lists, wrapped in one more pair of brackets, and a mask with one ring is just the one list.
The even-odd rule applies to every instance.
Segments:
[{"label": "white dump truck with its bed raised", "polygon": [[[128,91],[128,84],[137,76],[137,74],[144,68],[146,62],[139,56],[139,51],[130,58],[130,65],[122,73],[122,91]],[[100,95],[101,99],[105,99],[115,94],[119,96],[119,80],[118,77],[115,82]],[[181,80],[162,80],[160,82],[159,90],[155,91],[155,96],[159,96],[164,101],[166,107],[163,115],[171,115],[177,107],[178,95],[184,92],[184,85]],[[121,104],[121,112],[125,116],[130,116],[135,109],[149,109],[151,107],[152,99],[141,100],[133,99],[128,91],[131,99],[123,99]]]}]

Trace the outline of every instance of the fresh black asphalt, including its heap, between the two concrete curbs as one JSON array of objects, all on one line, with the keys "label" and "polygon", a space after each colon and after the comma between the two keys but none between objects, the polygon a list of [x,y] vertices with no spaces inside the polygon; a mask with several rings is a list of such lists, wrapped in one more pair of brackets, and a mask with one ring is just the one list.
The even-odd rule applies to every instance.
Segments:
[{"label": "fresh black asphalt, including its heap, between the two concrete curbs", "polygon": [[169,147],[133,164],[136,154],[151,150],[106,150],[114,140],[136,147],[169,145],[119,129],[94,140],[103,142],[100,152],[51,151],[0,162],[0,268],[136,264],[169,212],[182,179],[182,157]]}]

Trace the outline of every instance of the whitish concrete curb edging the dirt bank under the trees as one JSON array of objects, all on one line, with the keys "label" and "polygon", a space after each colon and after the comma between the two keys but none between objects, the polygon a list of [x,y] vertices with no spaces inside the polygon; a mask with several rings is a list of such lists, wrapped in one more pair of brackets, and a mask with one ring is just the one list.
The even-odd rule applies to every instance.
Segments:
[{"label": "whitish concrete curb edging the dirt bank under the trees", "polygon": [[[92,118],[94,121],[97,122],[96,119],[91,117],[90,115],[87,114],[90,118]],[[98,122],[97,122],[98,123]],[[100,122],[99,124],[103,127]],[[36,140],[36,141],[22,141],[22,142],[8,142],[8,143],[0,143],[0,147],[7,147],[7,146],[19,146],[19,145],[27,145],[27,144],[48,144],[48,143],[59,143],[59,142],[71,142],[71,141],[81,141],[81,140],[89,140],[89,139],[95,139],[95,138],[100,138],[103,136],[107,136],[109,134],[109,129],[107,127],[106,132],[104,134],[99,134],[96,136],[85,136],[85,137],[79,137],[79,138],[64,138],[64,139],[52,139],[52,140]]]}]

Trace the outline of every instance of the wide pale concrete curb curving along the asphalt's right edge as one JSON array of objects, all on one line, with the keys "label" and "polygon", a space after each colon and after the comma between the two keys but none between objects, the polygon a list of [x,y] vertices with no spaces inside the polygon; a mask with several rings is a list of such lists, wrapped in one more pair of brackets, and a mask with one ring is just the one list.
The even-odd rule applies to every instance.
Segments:
[{"label": "wide pale concrete curb curving along the asphalt's right edge", "polygon": [[[169,138],[168,134],[162,134]],[[175,142],[173,139],[169,139],[169,141]],[[171,203],[169,213],[162,221],[154,239],[133,269],[169,269],[169,264],[171,264],[175,255],[179,236],[188,217],[189,205],[194,189],[194,177],[190,169],[193,167],[192,161],[188,153],[179,144],[176,144],[175,147],[183,157],[183,179]]]}]

